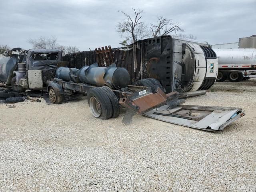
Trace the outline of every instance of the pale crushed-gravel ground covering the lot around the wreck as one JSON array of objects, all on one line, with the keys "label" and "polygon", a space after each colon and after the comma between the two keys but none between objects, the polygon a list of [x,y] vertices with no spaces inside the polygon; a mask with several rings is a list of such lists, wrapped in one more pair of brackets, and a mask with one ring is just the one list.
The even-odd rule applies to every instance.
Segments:
[{"label": "pale crushed-gravel ground covering the lot around the wreck", "polygon": [[0,105],[0,191],[256,191],[256,80],[186,104],[246,116],[220,133],[135,116],[98,120],[87,100]]}]

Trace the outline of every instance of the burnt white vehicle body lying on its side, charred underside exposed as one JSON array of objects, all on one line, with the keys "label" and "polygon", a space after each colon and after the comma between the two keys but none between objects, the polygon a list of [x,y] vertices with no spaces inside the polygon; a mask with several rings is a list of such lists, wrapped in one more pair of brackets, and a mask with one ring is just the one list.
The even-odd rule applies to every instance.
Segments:
[{"label": "burnt white vehicle body lying on its side, charred underside exposed", "polygon": [[[76,68],[96,61],[100,66],[106,66],[109,58],[98,56],[98,50],[67,54],[63,60]],[[125,48],[112,49],[112,54],[116,66],[128,70],[130,84],[154,78],[168,93],[177,91],[182,96],[204,94],[218,74],[216,54],[207,42],[177,36],[140,40]]]}]

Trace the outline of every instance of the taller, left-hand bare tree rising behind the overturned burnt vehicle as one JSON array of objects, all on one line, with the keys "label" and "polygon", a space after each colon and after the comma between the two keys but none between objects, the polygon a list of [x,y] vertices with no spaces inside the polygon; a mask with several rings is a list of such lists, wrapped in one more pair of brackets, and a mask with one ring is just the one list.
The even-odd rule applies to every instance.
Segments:
[{"label": "taller, left-hand bare tree rising behind the overturned burnt vehicle", "polygon": [[148,26],[142,21],[141,14],[143,13],[143,10],[136,10],[134,8],[132,8],[132,10],[134,11],[134,18],[123,11],[119,11],[126,16],[126,19],[119,22],[117,25],[117,32],[121,37],[126,38],[123,43],[133,43],[142,40],[149,35]]}]

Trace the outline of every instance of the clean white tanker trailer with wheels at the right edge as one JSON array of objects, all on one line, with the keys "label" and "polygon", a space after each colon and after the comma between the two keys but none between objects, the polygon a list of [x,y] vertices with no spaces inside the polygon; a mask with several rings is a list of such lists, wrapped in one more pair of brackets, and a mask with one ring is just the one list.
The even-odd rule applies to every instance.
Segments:
[{"label": "clean white tanker trailer with wheels at the right edge", "polygon": [[256,77],[256,49],[213,49],[219,63],[216,81],[239,82]]}]

